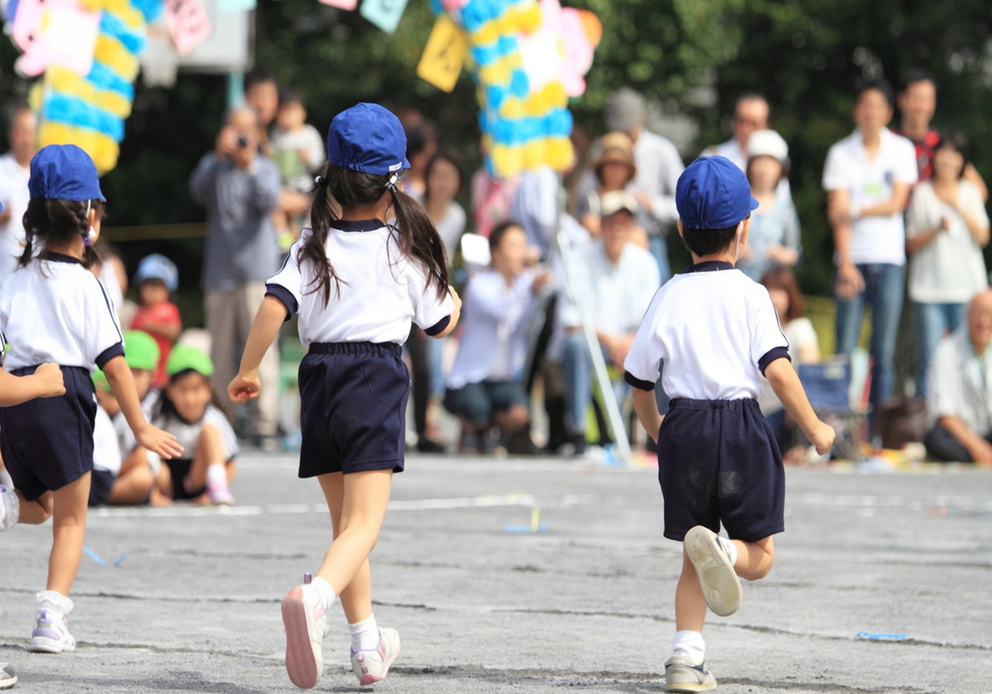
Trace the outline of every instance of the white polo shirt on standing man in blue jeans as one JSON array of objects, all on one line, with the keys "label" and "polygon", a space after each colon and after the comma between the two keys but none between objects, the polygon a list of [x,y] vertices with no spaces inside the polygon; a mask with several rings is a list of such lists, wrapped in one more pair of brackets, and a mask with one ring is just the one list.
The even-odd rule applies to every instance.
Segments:
[{"label": "white polo shirt on standing man in blue jeans", "polygon": [[[823,189],[846,190],[851,206],[874,207],[892,199],[893,183],[917,182],[917,150],[913,143],[882,128],[881,144],[871,160],[860,130],[833,145],[823,166]],[[859,217],[851,222],[851,262],[906,264],[903,212],[885,217]]]}]

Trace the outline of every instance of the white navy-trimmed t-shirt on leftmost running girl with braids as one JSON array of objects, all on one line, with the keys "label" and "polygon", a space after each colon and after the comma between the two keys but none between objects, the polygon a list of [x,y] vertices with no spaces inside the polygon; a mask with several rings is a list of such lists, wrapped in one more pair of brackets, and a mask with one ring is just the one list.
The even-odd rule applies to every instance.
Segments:
[{"label": "white navy-trimmed t-shirt on leftmost running girl with braids", "polygon": [[60,253],[36,258],[0,286],[0,331],[10,342],[8,371],[45,362],[93,371],[124,354],[107,289]]}]

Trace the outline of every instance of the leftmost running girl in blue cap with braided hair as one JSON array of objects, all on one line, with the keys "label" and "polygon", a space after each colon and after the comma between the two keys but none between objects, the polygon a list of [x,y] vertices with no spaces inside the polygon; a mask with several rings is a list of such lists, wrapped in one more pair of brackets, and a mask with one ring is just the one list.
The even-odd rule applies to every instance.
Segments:
[{"label": "leftmost running girl in blue cap with braided hair", "polygon": [[145,419],[116,313],[89,272],[98,263],[92,244],[104,202],[92,160],[74,145],[49,145],[31,160],[28,189],[24,254],[0,289],[0,331],[11,344],[4,368],[23,376],[45,362],[58,364],[65,393],[0,409],[0,450],[17,490],[19,520],[54,517],[48,586],[37,595],[31,649],[58,653],[75,648],[65,615],[93,469],[94,366],[106,375],[138,443],[166,458],[182,447]]}]

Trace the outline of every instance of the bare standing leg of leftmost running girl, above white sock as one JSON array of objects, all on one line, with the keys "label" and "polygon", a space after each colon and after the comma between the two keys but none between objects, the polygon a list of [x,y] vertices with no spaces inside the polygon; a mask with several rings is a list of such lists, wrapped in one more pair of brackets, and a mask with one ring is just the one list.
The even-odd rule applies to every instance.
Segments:
[{"label": "bare standing leg of leftmost running girl, above white sock", "polygon": [[55,496],[54,541],[49,556],[48,590],[68,597],[75,573],[82,560],[82,543],[86,533],[86,505],[89,502],[89,477],[86,473],[75,482],[53,492]]}]

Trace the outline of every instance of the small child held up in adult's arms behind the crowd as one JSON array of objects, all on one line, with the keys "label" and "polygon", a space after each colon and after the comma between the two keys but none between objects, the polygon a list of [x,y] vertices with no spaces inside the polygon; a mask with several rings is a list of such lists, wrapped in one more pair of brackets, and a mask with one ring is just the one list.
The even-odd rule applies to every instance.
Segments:
[{"label": "small child held up in adult's arms behind the crowd", "polygon": [[[313,190],[313,176],[323,169],[326,157],[323,137],[307,123],[307,107],[304,106],[299,91],[280,91],[276,127],[272,130],[269,142],[272,145],[272,159],[283,174],[283,187],[295,193],[310,195]],[[291,218],[280,208],[276,209],[274,215],[280,243],[284,250],[289,249],[300,233],[303,220]],[[290,236],[284,238],[285,234]]]}]

